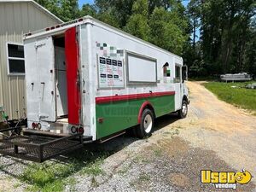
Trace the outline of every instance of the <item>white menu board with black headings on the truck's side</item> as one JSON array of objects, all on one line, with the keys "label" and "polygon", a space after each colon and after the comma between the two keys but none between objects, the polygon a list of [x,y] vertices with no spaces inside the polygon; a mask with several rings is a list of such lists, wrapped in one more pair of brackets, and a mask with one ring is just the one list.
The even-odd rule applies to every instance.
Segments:
[{"label": "white menu board with black headings on the truck's side", "polygon": [[99,88],[124,87],[124,63],[116,59],[99,57],[98,60]]}]

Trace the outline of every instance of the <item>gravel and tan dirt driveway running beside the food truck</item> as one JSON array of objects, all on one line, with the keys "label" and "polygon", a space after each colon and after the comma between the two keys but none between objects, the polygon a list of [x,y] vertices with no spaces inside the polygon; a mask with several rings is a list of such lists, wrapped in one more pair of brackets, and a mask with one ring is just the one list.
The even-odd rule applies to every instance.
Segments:
[{"label": "gravel and tan dirt driveway running beside the food truck", "polygon": [[[160,117],[152,137],[137,140],[117,137],[107,143],[86,146],[109,151],[96,176],[74,172],[75,183],[65,190],[75,191],[219,191],[200,182],[202,169],[240,171],[254,176],[236,191],[256,191],[256,117],[221,102],[200,82],[188,82],[189,114]],[[0,191],[22,191],[26,184],[16,177],[27,161],[0,156]],[[222,191],[234,191],[222,189]]]}]

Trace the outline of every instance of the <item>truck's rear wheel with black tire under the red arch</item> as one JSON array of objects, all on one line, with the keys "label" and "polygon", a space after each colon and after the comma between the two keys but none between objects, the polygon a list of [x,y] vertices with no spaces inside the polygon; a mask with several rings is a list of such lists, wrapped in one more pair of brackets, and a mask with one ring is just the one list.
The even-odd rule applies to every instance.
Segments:
[{"label": "truck's rear wheel with black tire under the red arch", "polygon": [[139,138],[150,137],[154,128],[154,113],[146,108],[143,111],[141,123],[137,126],[136,135]]}]

